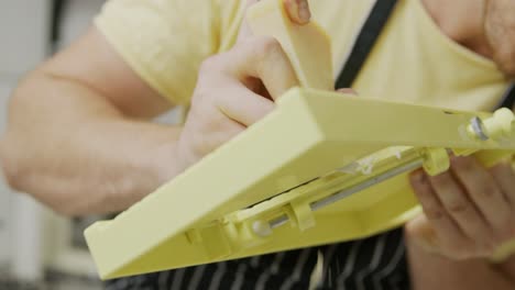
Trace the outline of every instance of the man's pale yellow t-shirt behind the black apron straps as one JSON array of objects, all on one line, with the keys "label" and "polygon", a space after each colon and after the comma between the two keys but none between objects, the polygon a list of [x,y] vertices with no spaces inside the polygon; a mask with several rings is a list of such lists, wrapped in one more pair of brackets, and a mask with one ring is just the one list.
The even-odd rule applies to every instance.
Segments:
[{"label": "man's pale yellow t-shirt behind the black apron straps", "polygon": [[[146,82],[169,101],[186,104],[200,63],[234,43],[244,2],[110,0],[96,25]],[[373,3],[310,0],[314,20],[332,38],[336,75]],[[492,110],[507,80],[493,62],[443,35],[421,0],[399,0],[353,87],[373,98]]]}]

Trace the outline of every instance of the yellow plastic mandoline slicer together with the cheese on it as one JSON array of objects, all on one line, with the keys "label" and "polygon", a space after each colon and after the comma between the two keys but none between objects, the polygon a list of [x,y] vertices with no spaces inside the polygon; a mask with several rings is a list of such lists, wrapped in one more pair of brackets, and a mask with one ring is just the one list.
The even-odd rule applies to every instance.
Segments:
[{"label": "yellow plastic mandoline slicer together with the cheese on it", "polygon": [[[330,42],[296,26],[281,0],[250,9],[282,44],[303,88],[112,221],[86,230],[102,279],[361,238],[418,212],[407,174],[449,154],[491,166],[515,150],[514,116],[331,92]],[[315,45],[314,45],[315,44]]]}]

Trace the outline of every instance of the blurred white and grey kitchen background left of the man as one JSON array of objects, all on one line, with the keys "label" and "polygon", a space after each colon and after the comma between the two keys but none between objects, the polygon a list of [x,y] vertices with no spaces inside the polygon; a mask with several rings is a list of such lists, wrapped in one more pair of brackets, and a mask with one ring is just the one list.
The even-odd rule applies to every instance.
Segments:
[{"label": "blurred white and grey kitchen background left of the man", "polygon": [[[83,34],[102,3],[0,1],[0,133],[20,77]],[[0,179],[0,290],[101,289],[83,238],[83,230],[95,219],[57,216]]]}]

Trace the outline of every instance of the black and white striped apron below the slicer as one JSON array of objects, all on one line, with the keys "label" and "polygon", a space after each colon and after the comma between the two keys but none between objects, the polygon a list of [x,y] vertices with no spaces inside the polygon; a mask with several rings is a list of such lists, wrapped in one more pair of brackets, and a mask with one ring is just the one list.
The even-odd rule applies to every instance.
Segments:
[{"label": "black and white striped apron below the slicer", "polygon": [[324,256],[327,289],[409,289],[402,230],[365,239],[149,274],[108,282],[106,290],[308,290]]}]

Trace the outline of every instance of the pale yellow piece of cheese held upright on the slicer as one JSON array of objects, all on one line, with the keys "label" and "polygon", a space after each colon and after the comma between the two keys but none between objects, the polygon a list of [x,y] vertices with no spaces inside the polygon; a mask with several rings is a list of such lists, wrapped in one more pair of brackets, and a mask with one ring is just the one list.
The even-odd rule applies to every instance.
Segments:
[{"label": "pale yellow piece of cheese held upright on the slicer", "polygon": [[264,0],[251,7],[246,14],[254,35],[273,36],[280,43],[297,74],[300,86],[333,90],[331,41],[316,23],[293,23],[283,0]]}]

